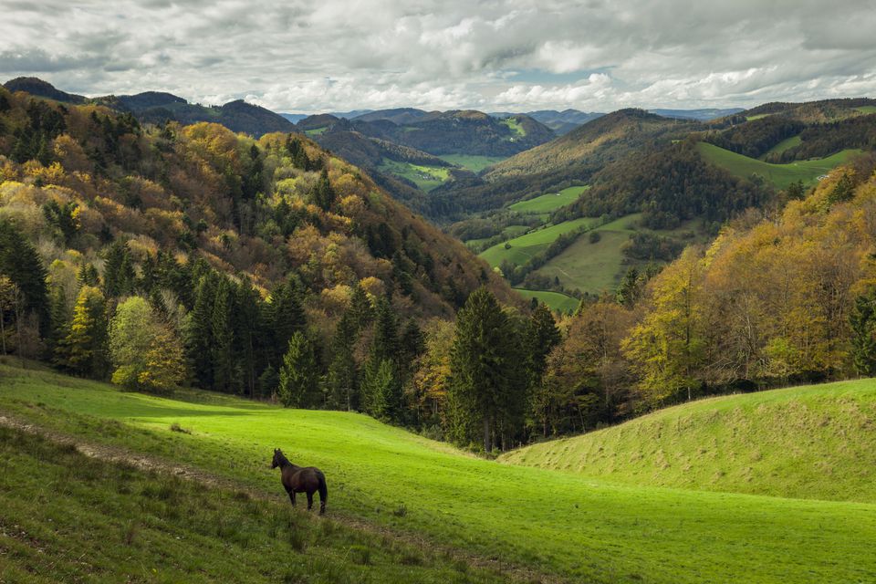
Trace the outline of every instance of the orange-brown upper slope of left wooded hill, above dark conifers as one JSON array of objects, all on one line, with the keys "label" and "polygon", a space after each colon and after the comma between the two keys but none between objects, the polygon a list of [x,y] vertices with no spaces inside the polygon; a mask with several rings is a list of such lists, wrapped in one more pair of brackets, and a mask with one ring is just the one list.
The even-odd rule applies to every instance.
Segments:
[{"label": "orange-brown upper slope of left wooded hill, above dark conifers", "polygon": [[[23,93],[4,97],[0,156],[11,160],[0,163],[0,209],[33,241],[47,240],[47,264],[60,260],[74,273],[99,266],[118,238],[130,241],[138,269],[160,251],[201,257],[262,290],[312,268],[306,281],[317,296],[365,277],[391,289],[401,277],[417,297],[412,310],[426,313],[451,314],[486,281],[511,297],[464,245],[306,139],[274,133],[253,141],[205,123],[142,128],[100,106],[57,110]],[[328,199],[317,201],[320,169]],[[63,219],[43,213],[49,203],[77,213],[63,234]],[[185,287],[179,293],[191,297]]]}]

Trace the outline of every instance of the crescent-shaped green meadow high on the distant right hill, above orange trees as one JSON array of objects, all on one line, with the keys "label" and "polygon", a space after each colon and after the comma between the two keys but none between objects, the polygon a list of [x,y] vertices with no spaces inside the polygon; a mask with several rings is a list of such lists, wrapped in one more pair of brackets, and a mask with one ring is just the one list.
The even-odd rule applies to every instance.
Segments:
[{"label": "crescent-shaped green meadow high on the distant right hill, above orange trees", "polygon": [[747,179],[752,174],[759,174],[777,189],[786,189],[787,185],[797,181],[814,183],[820,175],[827,174],[840,164],[848,162],[851,157],[861,153],[860,150],[844,150],[819,160],[769,164],[706,142],[699,142],[696,146],[705,160],[725,168],[735,176]]}]

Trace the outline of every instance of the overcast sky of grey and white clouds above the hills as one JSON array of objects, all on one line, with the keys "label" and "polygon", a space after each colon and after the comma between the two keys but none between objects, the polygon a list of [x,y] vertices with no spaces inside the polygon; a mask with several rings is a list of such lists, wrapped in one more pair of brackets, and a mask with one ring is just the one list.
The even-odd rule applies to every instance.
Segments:
[{"label": "overcast sky of grey and white clouds above the hills", "polygon": [[0,80],[276,111],[876,96],[872,0],[0,0]]}]

